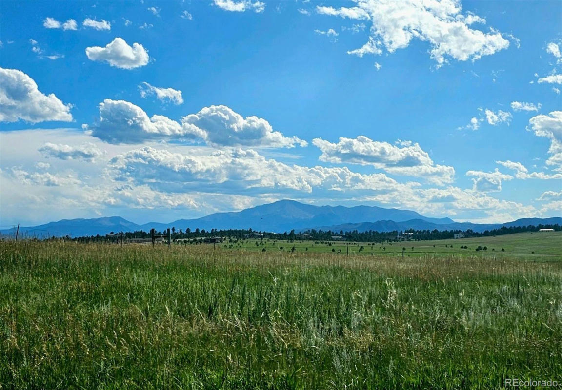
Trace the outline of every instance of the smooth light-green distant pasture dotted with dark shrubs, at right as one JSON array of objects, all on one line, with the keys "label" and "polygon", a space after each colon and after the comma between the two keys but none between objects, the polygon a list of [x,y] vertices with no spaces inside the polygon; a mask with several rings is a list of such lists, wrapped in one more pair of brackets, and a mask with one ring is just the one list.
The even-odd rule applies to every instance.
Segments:
[{"label": "smooth light-green distant pasture dotted with dark shrubs, at right", "polygon": [[[239,245],[238,245],[239,244]],[[245,239],[236,244],[224,242],[223,248],[249,249],[261,251],[291,251],[295,247],[297,252],[361,253],[373,256],[402,256],[402,248],[406,248],[405,256],[419,257],[432,254],[439,255],[469,255],[473,256],[478,246],[487,247],[479,254],[492,257],[520,257],[522,260],[541,261],[562,259],[562,232],[526,232],[516,234],[497,235],[496,237],[474,237],[462,239],[445,239],[433,241],[403,241],[391,243],[369,242],[341,242],[341,241],[282,241],[273,239]],[[468,249],[460,248],[467,246]],[[283,249],[280,249],[283,247]],[[360,251],[360,248],[363,249]],[[413,249],[412,249],[413,248]],[[505,250],[502,252],[502,248]],[[332,249],[334,251],[332,251]]]}]

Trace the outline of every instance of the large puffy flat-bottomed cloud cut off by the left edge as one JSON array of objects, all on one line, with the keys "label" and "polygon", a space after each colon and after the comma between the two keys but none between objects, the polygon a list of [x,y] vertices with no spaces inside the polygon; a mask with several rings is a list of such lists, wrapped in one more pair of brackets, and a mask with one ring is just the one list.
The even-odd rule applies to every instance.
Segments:
[{"label": "large puffy flat-bottomed cloud cut off by the left edge", "polygon": [[18,120],[38,123],[72,121],[72,105],[61,102],[54,93],[40,92],[37,84],[24,72],[0,68],[0,121]]}]

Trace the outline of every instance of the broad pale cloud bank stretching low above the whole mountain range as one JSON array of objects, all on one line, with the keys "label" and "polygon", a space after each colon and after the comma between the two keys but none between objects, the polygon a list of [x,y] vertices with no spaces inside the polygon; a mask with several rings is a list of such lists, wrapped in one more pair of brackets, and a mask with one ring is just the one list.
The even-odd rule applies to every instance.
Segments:
[{"label": "broad pale cloud bank stretching low above the whole mountain range", "polygon": [[[49,164],[35,164],[46,161],[38,149],[47,142],[71,146],[91,142],[104,149],[104,154],[87,164],[58,158],[50,158]],[[26,148],[20,147],[23,143]],[[139,215],[135,210],[142,209],[144,219],[166,221],[177,219],[178,212],[183,217],[198,217],[283,198],[318,205],[334,201],[342,205],[376,204],[481,223],[547,217],[560,210],[560,204],[556,208],[555,203],[560,201],[543,202],[537,209],[473,189],[425,188],[345,167],[293,165],[272,160],[269,151],[264,157],[264,153],[253,151],[217,152],[209,147],[159,142],[148,146],[156,152],[102,143],[83,131],[1,131],[0,187],[13,189],[0,197],[3,220],[35,225],[61,218],[94,217],[96,213],[134,220]],[[142,150],[137,146],[133,149]],[[24,173],[16,178],[11,168]],[[54,178],[43,175],[47,172]],[[62,184],[66,179],[70,180]]]}]

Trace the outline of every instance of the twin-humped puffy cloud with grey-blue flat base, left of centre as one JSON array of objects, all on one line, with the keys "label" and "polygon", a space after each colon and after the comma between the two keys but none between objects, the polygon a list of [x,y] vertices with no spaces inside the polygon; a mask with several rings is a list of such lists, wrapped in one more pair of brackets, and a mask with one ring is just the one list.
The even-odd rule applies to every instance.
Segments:
[{"label": "twin-humped puffy cloud with grey-blue flat base, left of centre", "polygon": [[226,106],[204,107],[178,123],[166,116],[148,117],[142,108],[126,101],[106,99],[99,104],[99,120],[92,135],[110,143],[143,143],[148,140],[193,140],[211,146],[306,146],[297,137],[274,131],[265,119],[246,118]]}]

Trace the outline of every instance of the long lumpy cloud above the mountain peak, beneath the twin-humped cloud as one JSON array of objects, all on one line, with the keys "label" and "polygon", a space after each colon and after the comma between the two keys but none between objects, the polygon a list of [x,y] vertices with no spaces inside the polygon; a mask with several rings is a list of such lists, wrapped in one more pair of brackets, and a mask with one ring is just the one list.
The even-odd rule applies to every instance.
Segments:
[{"label": "long lumpy cloud above the mountain peak, beneath the twin-humped cloud", "polygon": [[116,180],[172,192],[220,188],[225,193],[312,193],[321,189],[347,195],[357,191],[397,191],[404,186],[384,174],[359,174],[347,167],[287,165],[268,160],[252,149],[196,156],[143,147],[113,158],[110,167]]}]

